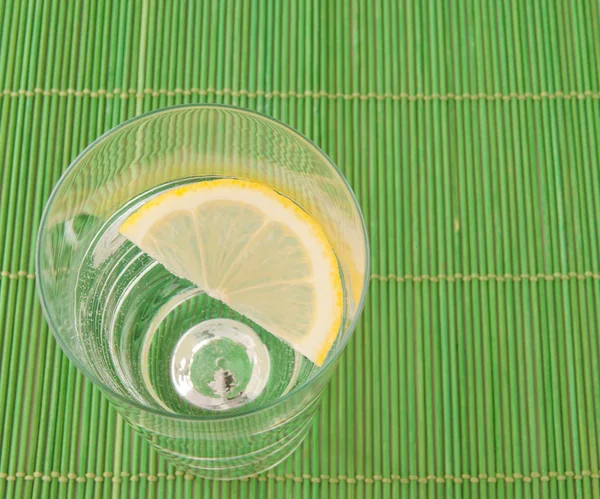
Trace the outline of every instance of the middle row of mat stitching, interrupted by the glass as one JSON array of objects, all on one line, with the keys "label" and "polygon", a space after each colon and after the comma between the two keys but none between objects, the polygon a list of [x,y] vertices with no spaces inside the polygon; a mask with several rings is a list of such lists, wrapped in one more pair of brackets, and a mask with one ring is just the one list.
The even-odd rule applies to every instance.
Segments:
[{"label": "middle row of mat stitching, interrupted by the glass", "polygon": [[[26,270],[19,270],[17,272],[11,273],[7,270],[2,270],[0,272],[1,277],[7,277],[8,279],[19,279],[24,277],[26,279],[35,279],[35,274],[32,272],[27,272]],[[570,279],[578,279],[583,281],[585,279],[598,279],[600,280],[600,274],[586,271],[582,273],[578,272],[567,272],[566,274],[560,272],[554,272],[553,274],[437,274],[437,275],[418,275],[414,276],[411,274],[406,275],[396,275],[396,274],[371,274],[371,279],[376,281],[397,281],[397,282],[455,282],[455,281],[498,281],[498,282],[521,282],[521,281],[568,281]]]}]

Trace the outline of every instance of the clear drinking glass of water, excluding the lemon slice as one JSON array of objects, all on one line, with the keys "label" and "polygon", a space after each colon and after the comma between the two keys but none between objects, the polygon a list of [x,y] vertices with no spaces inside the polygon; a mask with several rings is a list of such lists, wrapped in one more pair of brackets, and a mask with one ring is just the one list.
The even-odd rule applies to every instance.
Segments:
[{"label": "clear drinking glass of water, excluding the lemon slice", "polygon": [[[124,218],[153,196],[220,177],[266,184],[323,227],[339,262],[345,308],[321,367],[175,278],[119,234]],[[323,151],[258,113],[192,105],[130,120],[75,159],[46,206],[36,274],[60,346],[127,421],[179,467],[229,479],[276,465],[302,441],[362,309],[368,253],[356,199]],[[165,374],[174,365],[169,359],[185,352],[187,333],[199,337],[198,328],[221,319],[254,345],[230,343],[229,354],[247,363],[244,348],[256,347],[250,371],[266,362],[274,376],[257,387],[246,373],[257,391],[252,397],[215,402],[200,394],[200,402],[189,403]]]}]

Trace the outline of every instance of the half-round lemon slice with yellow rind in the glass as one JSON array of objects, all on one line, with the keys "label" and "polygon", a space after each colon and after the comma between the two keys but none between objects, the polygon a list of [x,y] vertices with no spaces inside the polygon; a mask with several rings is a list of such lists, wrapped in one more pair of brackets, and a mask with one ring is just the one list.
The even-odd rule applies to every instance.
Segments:
[{"label": "half-round lemon slice with yellow rind in the glass", "polygon": [[169,190],[119,231],[209,296],[321,365],[340,329],[342,283],[321,227],[288,198],[247,180]]}]

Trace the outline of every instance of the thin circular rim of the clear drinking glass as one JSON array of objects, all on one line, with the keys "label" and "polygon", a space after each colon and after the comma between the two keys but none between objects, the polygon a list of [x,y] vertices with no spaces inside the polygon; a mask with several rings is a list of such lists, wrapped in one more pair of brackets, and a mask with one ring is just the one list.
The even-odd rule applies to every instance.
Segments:
[{"label": "thin circular rim of the clear drinking glass", "polygon": [[[352,201],[354,202],[354,206],[358,212],[358,216],[359,216],[360,223],[362,226],[364,244],[365,244],[365,273],[364,273],[363,281],[362,281],[360,300],[358,302],[356,314],[355,314],[354,318],[352,319],[352,322],[350,323],[350,326],[348,328],[348,334],[339,344],[337,351],[334,352],[334,354],[332,356],[329,356],[329,358],[326,359],[325,363],[319,368],[319,371],[317,372],[317,374],[315,374],[315,376],[305,380],[299,386],[292,388],[284,396],[276,398],[274,400],[271,400],[259,407],[254,407],[252,409],[247,409],[247,410],[242,409],[239,412],[236,412],[235,414],[231,414],[231,415],[219,416],[219,415],[215,414],[215,415],[209,415],[209,416],[206,416],[206,415],[194,416],[194,415],[182,415],[182,414],[177,414],[177,413],[173,413],[173,412],[168,412],[163,409],[158,409],[155,407],[150,407],[150,406],[144,405],[141,402],[138,402],[137,400],[135,400],[133,397],[128,398],[128,397],[116,392],[115,390],[113,390],[109,386],[105,385],[104,383],[102,383],[101,380],[97,379],[97,377],[93,373],[91,373],[85,366],[83,366],[72,355],[72,352],[70,351],[70,349],[67,347],[65,342],[63,342],[62,338],[58,334],[59,328],[54,323],[54,320],[52,319],[52,316],[50,315],[50,313],[48,311],[48,306],[46,303],[46,297],[45,297],[45,292],[44,292],[44,286],[42,284],[42,279],[41,279],[41,274],[40,274],[41,253],[42,253],[42,251],[41,251],[42,232],[46,225],[49,212],[50,212],[53,202],[54,202],[54,198],[57,195],[60,187],[64,184],[65,180],[69,177],[69,175],[77,167],[77,165],[82,161],[82,159],[85,158],[96,146],[105,142],[107,139],[112,137],[114,134],[120,132],[124,128],[127,128],[128,126],[133,125],[134,123],[136,123],[138,121],[142,121],[142,120],[148,119],[150,117],[157,116],[159,114],[169,113],[169,112],[178,111],[178,110],[185,110],[185,109],[223,109],[223,110],[233,111],[233,112],[239,113],[239,114],[253,115],[253,116],[261,118],[265,121],[271,122],[272,124],[282,127],[286,132],[295,135],[302,142],[305,142],[308,146],[315,149],[315,151],[320,156],[322,156],[327,161],[327,163],[329,163],[329,165],[331,166],[333,171],[338,175],[340,180],[346,186],[347,191],[350,193],[350,197],[352,198]],[[133,406],[142,411],[147,411],[147,412],[150,412],[152,414],[155,414],[155,415],[161,416],[161,417],[167,417],[167,418],[171,418],[171,419],[175,419],[175,420],[179,420],[179,421],[185,420],[185,421],[198,421],[198,422],[201,422],[201,421],[215,422],[215,421],[227,421],[227,420],[232,420],[232,419],[238,419],[241,417],[247,417],[247,416],[251,416],[251,415],[260,413],[261,411],[267,410],[269,408],[272,408],[276,405],[279,405],[282,402],[285,402],[286,400],[289,400],[290,398],[292,398],[296,394],[300,393],[301,391],[307,389],[310,385],[314,384],[315,381],[317,381],[319,378],[321,378],[323,376],[323,373],[326,371],[326,369],[328,367],[330,367],[334,362],[336,362],[337,359],[340,357],[340,355],[344,351],[346,345],[348,344],[348,341],[354,334],[354,330],[356,329],[356,325],[360,318],[361,312],[364,308],[365,298],[367,295],[367,290],[369,288],[370,267],[371,267],[370,264],[371,264],[371,259],[370,259],[369,239],[367,236],[367,227],[365,224],[362,210],[360,208],[360,205],[358,204],[358,200],[356,199],[356,195],[354,194],[352,187],[348,183],[348,180],[343,175],[341,170],[337,167],[337,165],[329,157],[329,155],[327,155],[327,153],[325,153],[325,151],[323,151],[317,144],[315,144],[311,139],[306,137],[306,135],[304,135],[303,133],[292,128],[290,125],[287,125],[286,123],[284,123],[276,118],[273,118],[271,116],[268,116],[266,114],[263,114],[259,111],[254,111],[252,109],[247,109],[247,108],[238,107],[238,106],[231,106],[231,105],[227,105],[227,104],[180,104],[180,105],[176,105],[176,106],[168,106],[168,107],[163,107],[160,109],[155,109],[155,110],[149,111],[147,113],[142,113],[137,116],[134,116],[133,118],[129,118],[128,120],[125,120],[122,123],[119,123],[118,125],[110,128],[109,130],[107,130],[106,132],[101,134],[99,137],[94,139],[92,142],[90,142],[79,154],[77,154],[75,159],[73,159],[73,161],[71,161],[69,166],[61,174],[58,181],[52,188],[52,192],[50,193],[50,196],[48,197],[48,200],[46,201],[44,210],[42,212],[42,216],[40,218],[40,225],[39,225],[38,232],[37,232],[37,240],[36,240],[36,246],[35,246],[35,283],[36,283],[36,288],[38,291],[37,294],[40,299],[42,312],[44,314],[46,322],[48,323],[50,330],[52,331],[52,336],[54,337],[54,339],[57,341],[57,343],[61,347],[61,350],[68,357],[68,359],[71,362],[73,362],[75,367],[77,367],[77,369],[79,369],[82,372],[82,374],[84,374],[84,376],[86,378],[88,378],[94,385],[96,385],[98,388],[100,388],[100,390],[102,392],[104,392],[105,394],[108,394],[109,398],[114,398],[118,401],[125,403],[126,405]]]}]

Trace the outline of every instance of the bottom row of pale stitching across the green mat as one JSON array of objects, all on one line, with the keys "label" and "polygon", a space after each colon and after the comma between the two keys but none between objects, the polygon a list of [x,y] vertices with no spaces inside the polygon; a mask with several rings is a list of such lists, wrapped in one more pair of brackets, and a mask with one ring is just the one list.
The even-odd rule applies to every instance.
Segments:
[{"label": "bottom row of pale stitching across the green mat", "polygon": [[[156,475],[150,475],[148,473],[138,473],[138,474],[132,474],[132,473],[128,473],[128,472],[121,472],[121,473],[117,473],[116,475],[113,472],[110,471],[105,471],[104,473],[102,473],[101,475],[96,475],[95,473],[85,473],[84,475],[77,475],[75,473],[67,473],[66,475],[62,475],[57,471],[52,471],[49,475],[45,475],[39,471],[34,471],[32,474],[27,474],[24,472],[17,472],[14,475],[8,475],[7,473],[0,473],[0,480],[6,480],[6,481],[16,481],[17,479],[23,479],[23,480],[35,480],[35,479],[41,479],[43,481],[51,481],[53,479],[58,480],[59,482],[69,482],[69,481],[76,481],[76,482],[86,482],[87,480],[94,480],[95,482],[104,482],[106,481],[111,481],[111,482],[121,482],[121,478],[126,478],[129,481],[132,482],[136,482],[139,481],[140,479],[146,479],[150,482],[155,482],[161,478],[164,478],[166,480],[175,480],[177,477],[183,477],[184,480],[195,480],[196,477],[194,475],[190,475],[189,473],[183,473],[182,471],[176,471],[175,473],[163,473],[163,472],[158,472],[156,473]],[[447,483],[447,482],[454,482],[454,483],[465,483],[465,482],[469,482],[469,483],[496,483],[498,481],[504,481],[506,483],[514,483],[516,481],[522,481],[525,483],[529,483],[532,482],[533,480],[540,480],[540,481],[550,481],[551,479],[556,479],[556,480],[567,480],[569,478],[573,479],[573,480],[583,480],[584,478],[591,478],[591,479],[600,479],[600,473],[599,472],[592,472],[590,470],[583,470],[580,473],[575,473],[573,471],[565,471],[564,473],[558,473],[555,471],[551,471],[549,472],[547,475],[542,475],[539,472],[533,472],[530,473],[529,475],[523,475],[521,473],[513,473],[513,474],[509,474],[506,475],[504,473],[496,473],[493,475],[489,475],[486,473],[480,473],[478,475],[469,475],[469,474],[461,474],[461,475],[444,475],[444,476],[437,476],[437,475],[427,475],[427,476],[416,476],[416,475],[409,475],[409,476],[405,476],[402,477],[400,475],[390,475],[389,477],[384,477],[381,475],[373,475],[373,477],[365,477],[363,475],[356,475],[355,477],[347,477],[345,475],[339,475],[337,477],[332,477],[329,475],[320,475],[318,477],[314,477],[312,475],[302,475],[302,476],[295,476],[291,473],[286,473],[285,475],[276,475],[275,473],[267,473],[266,475],[252,475],[250,477],[247,478],[241,478],[241,481],[249,481],[250,479],[257,479],[258,481],[267,481],[269,479],[274,479],[276,481],[286,481],[286,480],[292,480],[294,482],[298,482],[301,483],[303,481],[310,481],[312,483],[321,483],[321,482],[325,482],[325,483],[340,483],[340,482],[346,482],[348,484],[354,484],[354,483],[358,483],[358,482],[364,482],[367,484],[370,483],[375,483],[375,482],[382,482],[382,483],[393,483],[393,482],[400,482],[403,484],[408,484],[411,482],[418,482],[418,483],[429,483],[429,482],[437,482],[437,483]]]}]

